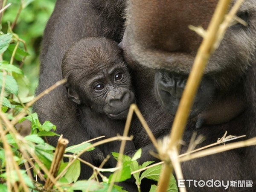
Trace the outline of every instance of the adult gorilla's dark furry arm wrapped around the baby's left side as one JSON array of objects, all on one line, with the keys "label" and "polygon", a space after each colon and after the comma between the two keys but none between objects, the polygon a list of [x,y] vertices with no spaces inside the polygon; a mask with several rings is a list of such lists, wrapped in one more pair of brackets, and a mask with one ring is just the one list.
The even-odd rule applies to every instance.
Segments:
[{"label": "adult gorilla's dark furry arm wrapped around the baby's left side", "polygon": [[[57,0],[45,32],[41,53],[41,71],[36,94],[41,93],[62,79],[61,61],[67,49],[76,41],[87,36],[106,36],[118,40],[122,29],[122,1],[114,1],[111,7],[104,0]],[[116,6],[116,7],[115,7]],[[117,8],[118,7],[118,8]],[[112,19],[112,17],[116,17]],[[63,134],[70,145],[89,139],[87,132],[76,118],[76,106],[67,99],[64,85],[45,95],[34,106],[40,122],[50,120],[57,126],[56,132]],[[49,137],[55,145],[56,137]],[[99,151],[84,154],[84,159],[93,163],[101,159]],[[89,176],[88,172],[86,177]]]}]

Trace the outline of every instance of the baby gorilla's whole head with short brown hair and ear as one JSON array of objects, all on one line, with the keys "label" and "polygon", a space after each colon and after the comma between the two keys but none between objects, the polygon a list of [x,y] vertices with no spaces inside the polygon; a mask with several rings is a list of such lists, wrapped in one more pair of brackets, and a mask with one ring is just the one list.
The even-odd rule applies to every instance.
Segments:
[{"label": "baby gorilla's whole head with short brown hair and ear", "polygon": [[124,119],[135,101],[131,77],[118,45],[107,38],[85,38],[64,55],[62,75],[68,97],[97,113]]}]

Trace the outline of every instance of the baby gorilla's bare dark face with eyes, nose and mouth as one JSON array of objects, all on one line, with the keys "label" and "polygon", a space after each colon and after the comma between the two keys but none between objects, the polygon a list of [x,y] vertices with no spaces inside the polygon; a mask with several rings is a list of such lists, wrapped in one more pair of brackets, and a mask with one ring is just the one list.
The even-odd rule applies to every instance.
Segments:
[{"label": "baby gorilla's bare dark face with eyes, nose and mouth", "polygon": [[[87,105],[112,119],[125,119],[130,105],[135,101],[131,78],[124,64],[101,66],[89,83]],[[83,90],[83,91],[86,91]],[[88,91],[91,90],[91,91]],[[89,93],[89,94],[88,94]]]}]

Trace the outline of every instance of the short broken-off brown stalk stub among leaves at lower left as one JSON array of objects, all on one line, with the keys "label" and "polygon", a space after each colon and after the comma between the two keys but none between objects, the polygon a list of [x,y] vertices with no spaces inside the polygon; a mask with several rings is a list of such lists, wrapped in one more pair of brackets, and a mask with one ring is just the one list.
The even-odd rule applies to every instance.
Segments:
[{"label": "short broken-off brown stalk stub among leaves at lower left", "polygon": [[[65,149],[67,147],[67,144],[68,144],[68,140],[62,138],[62,135],[61,135],[61,137],[58,139],[58,143],[57,143],[57,146],[55,149],[51,168],[49,171],[49,174],[51,174],[53,177],[56,177],[58,170],[61,166],[61,160],[63,159],[63,155],[64,155]],[[48,189],[52,188],[53,184],[54,183],[52,182],[52,180],[50,180],[50,177],[48,176],[47,180],[44,184],[44,188],[46,190],[48,190]]]}]

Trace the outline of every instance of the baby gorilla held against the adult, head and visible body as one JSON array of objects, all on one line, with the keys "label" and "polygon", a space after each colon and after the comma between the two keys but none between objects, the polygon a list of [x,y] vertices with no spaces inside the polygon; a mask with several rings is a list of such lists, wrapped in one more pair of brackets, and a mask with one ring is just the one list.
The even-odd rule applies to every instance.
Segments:
[{"label": "baby gorilla held against the adult, head and visible body", "polygon": [[[79,121],[90,139],[123,133],[135,97],[122,51],[114,41],[100,37],[76,42],[64,55],[62,74],[67,79],[67,95],[78,105]],[[119,145],[115,141],[99,149],[106,156],[118,152]],[[125,154],[134,150],[134,143],[127,142]],[[108,163],[113,167],[116,161],[111,158]]]}]

